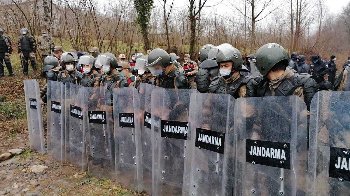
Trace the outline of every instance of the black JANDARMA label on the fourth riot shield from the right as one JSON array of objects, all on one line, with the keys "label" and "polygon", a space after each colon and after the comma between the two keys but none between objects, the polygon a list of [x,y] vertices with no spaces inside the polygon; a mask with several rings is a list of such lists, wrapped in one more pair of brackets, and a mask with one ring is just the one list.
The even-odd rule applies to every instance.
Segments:
[{"label": "black JANDARMA label on the fourth riot shield from the right", "polygon": [[169,121],[161,120],[160,121],[160,136],[169,137],[180,140],[187,139],[188,131],[188,122],[179,122],[179,121]]}]

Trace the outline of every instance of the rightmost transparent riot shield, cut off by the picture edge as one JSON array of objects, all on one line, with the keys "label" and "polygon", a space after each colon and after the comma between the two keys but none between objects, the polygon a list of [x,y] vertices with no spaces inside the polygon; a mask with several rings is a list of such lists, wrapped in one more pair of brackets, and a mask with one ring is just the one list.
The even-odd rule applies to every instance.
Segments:
[{"label": "rightmost transparent riot shield, cut off by the picture edge", "polygon": [[320,91],[311,101],[308,195],[349,195],[349,108],[349,91]]}]

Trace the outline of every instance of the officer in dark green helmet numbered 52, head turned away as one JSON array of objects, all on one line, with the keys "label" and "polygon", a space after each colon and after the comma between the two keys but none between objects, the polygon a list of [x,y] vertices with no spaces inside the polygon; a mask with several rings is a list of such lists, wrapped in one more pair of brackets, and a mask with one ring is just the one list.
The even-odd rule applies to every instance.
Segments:
[{"label": "officer in dark green helmet numbered 52, head turned away", "polygon": [[318,91],[318,85],[311,75],[294,74],[287,68],[287,53],[279,44],[265,44],[255,56],[257,68],[264,76],[258,86],[258,97],[296,95],[305,101],[310,111],[311,99]]}]

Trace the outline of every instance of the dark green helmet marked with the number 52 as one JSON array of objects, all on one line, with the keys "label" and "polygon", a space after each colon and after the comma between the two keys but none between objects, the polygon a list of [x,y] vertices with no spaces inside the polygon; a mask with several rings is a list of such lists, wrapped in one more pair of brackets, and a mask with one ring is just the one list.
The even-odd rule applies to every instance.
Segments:
[{"label": "dark green helmet marked with the number 52", "polygon": [[256,66],[260,73],[266,76],[271,68],[280,61],[288,65],[288,55],[285,49],[276,43],[269,43],[261,46],[255,53]]}]

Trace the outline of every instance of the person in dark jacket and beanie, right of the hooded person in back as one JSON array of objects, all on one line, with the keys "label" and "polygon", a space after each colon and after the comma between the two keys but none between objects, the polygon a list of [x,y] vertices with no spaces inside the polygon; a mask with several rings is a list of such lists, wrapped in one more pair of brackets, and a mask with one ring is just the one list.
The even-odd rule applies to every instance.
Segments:
[{"label": "person in dark jacket and beanie, right of the hooded person in back", "polygon": [[326,62],[320,59],[320,56],[318,55],[312,55],[311,61],[310,71],[312,72],[312,78],[317,82],[317,84],[320,84],[322,81],[324,81],[324,74],[328,73],[328,65]]}]

